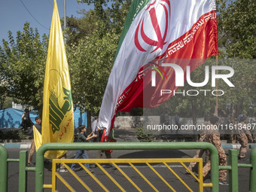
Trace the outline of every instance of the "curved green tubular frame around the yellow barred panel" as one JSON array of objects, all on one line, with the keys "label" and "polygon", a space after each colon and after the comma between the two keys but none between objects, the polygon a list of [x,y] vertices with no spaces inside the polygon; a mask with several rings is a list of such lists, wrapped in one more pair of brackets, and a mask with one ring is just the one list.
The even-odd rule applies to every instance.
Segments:
[{"label": "curved green tubular frame around the yellow barred panel", "polygon": [[214,145],[209,142],[120,142],[120,143],[46,143],[38,149],[36,153],[35,166],[35,190],[42,192],[44,189],[44,153],[46,151],[64,150],[189,150],[189,149],[207,149],[211,153],[211,180],[212,191],[218,192],[218,151]]}]

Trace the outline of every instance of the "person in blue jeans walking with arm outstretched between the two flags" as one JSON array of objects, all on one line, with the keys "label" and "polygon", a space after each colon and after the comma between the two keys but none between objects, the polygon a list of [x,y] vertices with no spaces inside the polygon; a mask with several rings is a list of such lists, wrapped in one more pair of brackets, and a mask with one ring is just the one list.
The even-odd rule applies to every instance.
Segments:
[{"label": "person in blue jeans walking with arm outstretched between the two flags", "polygon": [[[85,133],[87,132],[87,128],[85,125],[81,125],[78,127],[79,134],[78,134],[78,142],[88,142],[90,139],[96,138],[97,135],[93,135],[93,133],[90,133],[89,136],[85,136]],[[93,135],[93,136],[92,136]],[[89,159],[86,151],[76,151],[75,152],[75,159],[79,159],[80,157],[83,157],[84,159]],[[90,171],[93,172],[90,169],[89,163],[84,163],[84,166]],[[71,169],[75,170],[75,163],[72,163]]]}]

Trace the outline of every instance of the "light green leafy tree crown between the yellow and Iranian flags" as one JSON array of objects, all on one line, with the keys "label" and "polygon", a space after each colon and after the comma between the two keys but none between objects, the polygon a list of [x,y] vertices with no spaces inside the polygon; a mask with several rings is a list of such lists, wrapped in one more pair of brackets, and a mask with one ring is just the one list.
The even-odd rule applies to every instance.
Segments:
[{"label": "light green leafy tree crown between the yellow and Iranian flags", "polygon": [[118,35],[86,37],[68,49],[72,96],[75,105],[92,114],[99,111],[114,62]]}]

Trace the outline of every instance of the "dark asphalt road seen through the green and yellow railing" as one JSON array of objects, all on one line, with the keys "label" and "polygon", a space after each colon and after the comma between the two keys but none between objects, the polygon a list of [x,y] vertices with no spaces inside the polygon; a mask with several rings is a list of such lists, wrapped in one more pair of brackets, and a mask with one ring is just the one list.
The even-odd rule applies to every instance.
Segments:
[{"label": "dark asphalt road seen through the green and yellow railing", "polygon": [[[9,158],[18,158],[19,157],[19,149],[8,149],[8,157]],[[225,149],[226,154],[228,155],[228,150]],[[251,150],[249,149],[247,152],[246,159],[241,161],[239,160],[239,163],[249,163],[249,157],[250,157]],[[88,156],[93,159],[96,158],[96,151],[87,151]],[[112,153],[112,158],[190,158],[193,157],[195,154],[194,150],[190,151],[177,151],[177,150],[171,150],[171,151],[114,151]],[[68,158],[74,158],[75,157],[75,151],[68,151],[67,153]],[[35,155],[33,157],[33,162],[35,162]],[[178,181],[178,179],[175,177],[175,175],[172,174],[166,167],[163,166],[162,163],[155,163],[152,164],[154,169],[157,170],[157,172],[160,172],[160,174],[163,176],[163,178],[166,179],[167,182],[169,182],[172,187],[176,191],[189,191],[187,190],[184,185],[181,183],[181,181]],[[188,186],[191,187],[193,191],[197,191],[197,182],[196,180],[191,176],[185,173],[184,168],[178,164],[170,164],[170,167],[184,180],[185,183],[188,184]],[[142,179],[138,173],[136,173],[130,166],[127,164],[120,165],[120,168],[123,170],[123,172],[126,173],[126,175],[129,175],[130,178],[143,190],[143,191],[154,191],[151,187]],[[160,191],[171,191],[168,187],[166,187],[166,184],[164,184],[163,181],[160,180],[160,178],[151,171],[151,169],[148,168],[148,166],[145,166],[145,164],[136,164],[136,168],[139,169],[142,174],[147,175],[147,178],[149,181],[151,181],[152,184],[154,184],[155,187],[157,187]],[[44,167],[44,184],[51,184],[51,163],[45,165]],[[93,191],[104,191],[102,190],[98,184],[96,184],[93,179],[85,174],[84,170],[80,170],[79,167],[76,168],[76,174],[81,177],[81,179],[87,183],[90,187],[92,187]],[[120,172],[117,169],[106,169],[108,173],[110,173],[114,179],[120,182],[122,187],[126,191],[137,191],[135,187],[133,187],[130,182],[126,180],[126,178],[123,178],[123,176],[120,174]],[[100,181],[102,181],[102,184],[105,185],[111,192],[112,191],[120,191],[117,187],[114,186],[113,182],[106,178],[105,174],[99,169],[99,167],[93,168],[93,175],[96,176],[96,178],[99,178]],[[249,187],[249,168],[239,168],[239,191],[248,191]],[[19,183],[19,163],[17,162],[10,162],[8,163],[8,191],[14,192],[18,191],[18,183]],[[59,172],[59,174],[66,179],[66,181],[69,182],[69,184],[72,185],[72,187],[75,188],[76,191],[86,191],[84,187],[78,183],[78,181],[74,178],[74,176],[71,175],[70,172]],[[210,176],[207,175],[204,182],[210,182]],[[57,190],[58,191],[70,191],[66,186],[64,186],[58,179],[56,182]],[[27,184],[27,191],[35,191],[35,172],[28,172],[28,184]],[[51,191],[51,190],[44,190],[44,191]],[[204,191],[211,191],[210,188],[205,188]],[[220,185],[220,191],[228,191],[228,186]]]}]

